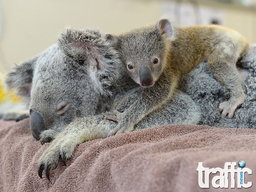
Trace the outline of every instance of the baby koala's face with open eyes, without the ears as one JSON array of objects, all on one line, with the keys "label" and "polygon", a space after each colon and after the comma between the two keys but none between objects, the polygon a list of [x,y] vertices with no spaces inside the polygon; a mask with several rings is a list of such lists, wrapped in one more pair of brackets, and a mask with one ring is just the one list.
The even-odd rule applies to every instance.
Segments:
[{"label": "baby koala's face with open eyes, without the ears", "polygon": [[165,42],[159,31],[135,29],[120,36],[118,46],[131,78],[142,87],[153,86],[166,60]]}]

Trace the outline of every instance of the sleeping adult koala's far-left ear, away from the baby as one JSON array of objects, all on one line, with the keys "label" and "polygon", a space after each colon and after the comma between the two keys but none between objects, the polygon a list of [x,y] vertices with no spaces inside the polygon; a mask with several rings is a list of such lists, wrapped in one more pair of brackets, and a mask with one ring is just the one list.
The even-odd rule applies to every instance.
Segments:
[{"label": "sleeping adult koala's far-left ear, away from the baby", "polygon": [[29,100],[32,86],[33,71],[38,56],[24,61],[13,68],[13,71],[7,74],[5,83],[8,89],[15,89],[17,94]]}]

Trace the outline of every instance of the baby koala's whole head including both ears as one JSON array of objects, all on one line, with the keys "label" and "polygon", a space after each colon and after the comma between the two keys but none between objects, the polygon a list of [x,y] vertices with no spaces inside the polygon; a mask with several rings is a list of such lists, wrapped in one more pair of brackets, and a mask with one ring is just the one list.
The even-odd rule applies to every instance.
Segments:
[{"label": "baby koala's whole head including both ears", "polygon": [[166,65],[174,28],[168,19],[155,25],[132,29],[121,35],[106,34],[131,78],[142,87],[152,87]]}]

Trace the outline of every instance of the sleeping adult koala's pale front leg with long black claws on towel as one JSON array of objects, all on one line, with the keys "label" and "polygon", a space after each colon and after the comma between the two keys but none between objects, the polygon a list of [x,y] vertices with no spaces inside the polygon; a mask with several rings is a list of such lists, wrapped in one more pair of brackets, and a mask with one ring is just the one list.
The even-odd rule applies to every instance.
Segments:
[{"label": "sleeping adult koala's pale front leg with long black claws on towel", "polygon": [[39,159],[38,175],[42,178],[43,170],[47,179],[50,180],[50,171],[55,169],[61,157],[66,165],[76,147],[89,140],[108,137],[110,131],[116,126],[116,122],[103,119],[110,113],[103,113],[98,116],[77,118],[56,135],[50,146],[44,151]]}]

